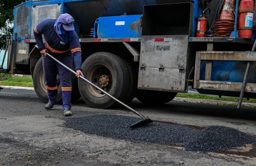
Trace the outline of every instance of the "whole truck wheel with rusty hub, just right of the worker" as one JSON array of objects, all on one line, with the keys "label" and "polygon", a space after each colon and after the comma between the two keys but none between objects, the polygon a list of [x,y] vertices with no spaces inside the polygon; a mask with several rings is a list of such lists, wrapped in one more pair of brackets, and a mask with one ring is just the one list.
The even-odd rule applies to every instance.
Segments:
[{"label": "whole truck wheel with rusty hub, just right of the worker", "polygon": [[[131,97],[131,68],[115,54],[96,52],[83,62],[82,70],[84,77],[122,102]],[[78,88],[82,99],[90,107],[108,108],[118,104],[81,79],[78,80]]]}]

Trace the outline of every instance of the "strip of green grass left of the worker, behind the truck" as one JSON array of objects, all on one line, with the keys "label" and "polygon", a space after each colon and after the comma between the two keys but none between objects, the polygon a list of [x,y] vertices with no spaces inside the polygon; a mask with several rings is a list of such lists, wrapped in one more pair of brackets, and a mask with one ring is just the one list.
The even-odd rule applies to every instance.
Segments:
[{"label": "strip of green grass left of the worker, behind the truck", "polygon": [[0,81],[0,86],[33,87],[31,76],[6,76],[6,80]]}]

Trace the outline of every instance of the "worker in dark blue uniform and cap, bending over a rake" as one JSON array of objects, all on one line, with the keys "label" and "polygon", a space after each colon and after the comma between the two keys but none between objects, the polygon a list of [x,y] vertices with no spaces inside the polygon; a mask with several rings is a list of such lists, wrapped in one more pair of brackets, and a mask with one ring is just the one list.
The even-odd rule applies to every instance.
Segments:
[{"label": "worker in dark blue uniform and cap, bending over a rake", "polygon": [[[81,46],[78,35],[74,31],[73,23],[74,18],[71,15],[61,14],[58,19],[46,19],[34,27],[36,44],[42,55],[42,66],[49,97],[49,102],[45,108],[51,109],[57,102],[57,74],[59,74],[64,116],[72,116],[71,72],[47,56],[47,52],[69,68],[72,68],[74,59],[77,78],[80,75],[83,76],[81,68]],[[42,40],[42,35],[45,37],[45,44]]]}]

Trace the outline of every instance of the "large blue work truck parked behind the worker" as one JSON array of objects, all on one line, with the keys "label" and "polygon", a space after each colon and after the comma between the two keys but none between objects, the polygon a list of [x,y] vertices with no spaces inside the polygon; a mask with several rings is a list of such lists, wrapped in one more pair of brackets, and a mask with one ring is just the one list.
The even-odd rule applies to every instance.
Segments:
[{"label": "large blue work truck parked behind the worker", "polygon": [[[44,19],[69,13],[82,47],[84,76],[125,103],[135,96],[144,103],[166,103],[177,93],[186,93],[188,86],[202,94],[238,97],[245,85],[242,97],[255,98],[256,54],[250,51],[254,37],[238,36],[239,1],[233,5],[231,35],[210,33],[221,3],[223,0],[29,0],[14,8],[8,65],[0,73],[32,75],[36,94],[47,102],[33,29]],[[209,33],[197,37],[202,11],[208,11]],[[245,74],[248,62],[251,65]],[[116,105],[75,77],[72,86],[72,101],[81,96],[91,107]]]}]

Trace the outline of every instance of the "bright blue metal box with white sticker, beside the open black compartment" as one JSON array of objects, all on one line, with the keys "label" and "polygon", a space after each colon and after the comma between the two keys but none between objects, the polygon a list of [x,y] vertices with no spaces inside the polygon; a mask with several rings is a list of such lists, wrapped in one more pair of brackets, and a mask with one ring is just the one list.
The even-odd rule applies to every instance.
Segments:
[{"label": "bright blue metal box with white sticker, beside the open black compartment", "polygon": [[100,17],[98,38],[140,38],[142,15]]}]

